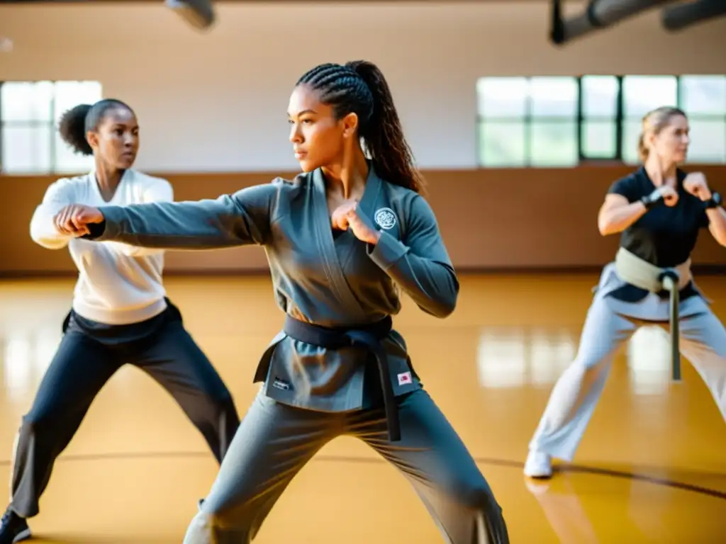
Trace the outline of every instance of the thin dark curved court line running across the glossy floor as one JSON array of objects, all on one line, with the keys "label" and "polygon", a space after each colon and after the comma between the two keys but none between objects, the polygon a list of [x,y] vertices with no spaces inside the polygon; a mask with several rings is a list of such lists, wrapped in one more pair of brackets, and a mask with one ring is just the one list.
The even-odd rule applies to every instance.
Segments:
[{"label": "thin dark curved court line running across the glossy floor", "polygon": [[[150,459],[150,458],[205,458],[211,459],[211,454],[205,452],[148,452],[148,453],[93,453],[88,455],[71,455],[71,456],[60,456],[56,463],[62,462],[76,462],[76,461],[102,461],[109,459]],[[523,469],[524,463],[520,461],[510,461],[508,459],[497,459],[497,458],[485,458],[475,457],[474,460],[477,464],[484,464],[489,466],[507,466],[512,469]],[[366,464],[387,464],[383,458],[375,457],[353,457],[353,456],[330,456],[330,455],[318,455],[312,458],[313,462],[338,462],[338,463],[366,463]],[[2,460],[0,466],[9,466],[11,461]],[[631,479],[639,482],[645,482],[651,485],[658,485],[662,487],[672,487],[682,491],[690,491],[692,493],[698,493],[700,495],[707,495],[709,497],[726,500],[726,492],[714,490],[709,487],[703,487],[701,485],[687,484],[685,482],[677,482],[673,479],[661,478],[656,476],[650,476],[648,474],[618,471],[612,469],[597,469],[592,466],[584,465],[566,465],[558,466],[555,468],[555,474],[557,472],[576,472],[581,474],[594,474],[596,476],[604,476],[611,478],[620,479]],[[725,475],[726,476],[726,475]],[[524,478],[524,476],[522,476]]]}]

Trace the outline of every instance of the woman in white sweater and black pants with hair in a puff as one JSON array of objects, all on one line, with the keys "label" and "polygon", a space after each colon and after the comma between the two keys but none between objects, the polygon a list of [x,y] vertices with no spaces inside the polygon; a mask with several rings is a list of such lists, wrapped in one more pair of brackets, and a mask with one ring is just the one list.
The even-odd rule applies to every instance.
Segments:
[{"label": "woman in white sweater and black pants with hair in a puff", "polygon": [[92,154],[95,168],[49,186],[30,223],[37,244],[68,247],[78,281],[62,341],[20,426],[0,544],[30,537],[26,519],[38,514],[55,459],[124,364],[142,368],[174,397],[218,462],[240,423],[232,395],[166,297],[163,250],[78,239],[65,230],[65,215],[54,219],[68,205],[174,199],[168,181],[131,169],[139,149],[133,110],[113,99],[82,104],[65,113],[60,133],[77,152]]}]

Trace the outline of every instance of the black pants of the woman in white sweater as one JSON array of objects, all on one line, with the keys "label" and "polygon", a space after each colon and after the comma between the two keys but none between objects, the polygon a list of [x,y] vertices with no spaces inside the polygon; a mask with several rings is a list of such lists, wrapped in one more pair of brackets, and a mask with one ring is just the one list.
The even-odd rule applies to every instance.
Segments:
[{"label": "black pants of the woman in white sweater", "polygon": [[126,363],[146,371],[181,406],[203,434],[216,460],[227,453],[240,424],[232,395],[168,302],[159,316],[110,326],[73,311],[60,346],[23,418],[12,474],[12,509],[38,514],[54,462],[76,434],[91,403]]}]

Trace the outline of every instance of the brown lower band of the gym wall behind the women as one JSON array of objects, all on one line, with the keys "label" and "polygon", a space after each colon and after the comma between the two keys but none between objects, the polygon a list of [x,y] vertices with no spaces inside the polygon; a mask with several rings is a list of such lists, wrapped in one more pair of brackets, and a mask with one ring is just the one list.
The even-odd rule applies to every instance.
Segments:
[{"label": "brown lower band of the gym wall behind the women", "polygon": [[[726,167],[703,166],[726,194]],[[428,201],[459,271],[592,269],[615,255],[618,236],[597,231],[597,210],[625,167],[566,169],[425,170]],[[179,200],[216,197],[265,183],[277,173],[164,174]],[[52,178],[0,177],[0,276],[75,273],[68,250],[50,251],[30,239],[29,223]],[[703,231],[694,263],[726,265],[726,248]],[[168,273],[268,273],[259,247],[169,252]]]}]

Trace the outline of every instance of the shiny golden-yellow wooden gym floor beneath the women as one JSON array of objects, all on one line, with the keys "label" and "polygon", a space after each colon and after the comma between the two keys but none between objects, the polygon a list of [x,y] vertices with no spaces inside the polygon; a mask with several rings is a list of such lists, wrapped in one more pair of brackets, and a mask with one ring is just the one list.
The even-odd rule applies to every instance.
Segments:
[{"label": "shiny golden-yellow wooden gym floor beneath the women", "polygon": [[[669,382],[667,339],[624,346],[576,462],[522,474],[547,395],[574,357],[595,276],[464,277],[449,319],[409,301],[396,327],[425,387],[477,458],[514,544],[722,543],[726,425],[693,368]],[[253,368],[282,315],[266,278],[168,279],[170,297],[244,413]],[[726,318],[726,282],[701,279]],[[0,282],[0,479],[60,339],[73,281]],[[196,430],[133,367],[107,384],[59,459],[31,527],[39,543],[180,543],[216,464]],[[256,543],[440,543],[407,482],[340,438],[290,485]]]}]

